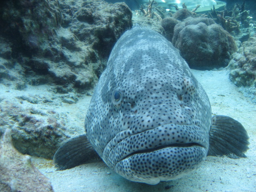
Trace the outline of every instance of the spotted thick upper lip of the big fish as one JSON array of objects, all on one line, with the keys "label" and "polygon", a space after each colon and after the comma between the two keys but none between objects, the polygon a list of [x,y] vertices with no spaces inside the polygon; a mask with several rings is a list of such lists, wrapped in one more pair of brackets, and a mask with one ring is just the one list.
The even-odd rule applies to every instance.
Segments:
[{"label": "spotted thick upper lip of the big fish", "polygon": [[118,133],[104,149],[103,159],[112,168],[131,156],[164,149],[198,148],[204,156],[208,150],[208,132],[196,125],[166,124],[136,134],[124,132]]}]

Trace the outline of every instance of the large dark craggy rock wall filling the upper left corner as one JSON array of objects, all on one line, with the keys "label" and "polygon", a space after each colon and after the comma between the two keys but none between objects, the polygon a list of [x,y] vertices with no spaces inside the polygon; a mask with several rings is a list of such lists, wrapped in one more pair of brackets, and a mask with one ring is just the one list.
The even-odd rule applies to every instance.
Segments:
[{"label": "large dark craggy rock wall filling the upper left corner", "polygon": [[[132,26],[131,10],[102,0],[2,1],[1,78],[55,84],[56,92],[93,88],[118,37]],[[5,69],[6,68],[6,69]],[[17,68],[16,74],[8,69]],[[15,71],[15,70],[14,70]]]}]

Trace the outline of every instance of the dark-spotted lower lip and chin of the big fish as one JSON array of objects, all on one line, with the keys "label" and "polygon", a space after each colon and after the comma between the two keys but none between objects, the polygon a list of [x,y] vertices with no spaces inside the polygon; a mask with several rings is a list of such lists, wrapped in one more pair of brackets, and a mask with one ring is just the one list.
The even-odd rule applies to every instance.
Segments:
[{"label": "dark-spotted lower lip and chin of the big fish", "polygon": [[155,185],[198,169],[206,154],[207,150],[202,146],[171,146],[132,154],[118,162],[115,171],[128,180]]}]

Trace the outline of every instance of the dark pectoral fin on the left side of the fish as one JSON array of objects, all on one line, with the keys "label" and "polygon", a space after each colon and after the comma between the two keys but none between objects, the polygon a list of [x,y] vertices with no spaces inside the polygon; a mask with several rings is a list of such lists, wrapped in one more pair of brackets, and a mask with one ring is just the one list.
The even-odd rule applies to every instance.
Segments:
[{"label": "dark pectoral fin on the left side of the fish", "polygon": [[76,136],[62,145],[54,154],[53,161],[57,170],[70,169],[95,160],[98,154],[92,148],[86,135]]}]

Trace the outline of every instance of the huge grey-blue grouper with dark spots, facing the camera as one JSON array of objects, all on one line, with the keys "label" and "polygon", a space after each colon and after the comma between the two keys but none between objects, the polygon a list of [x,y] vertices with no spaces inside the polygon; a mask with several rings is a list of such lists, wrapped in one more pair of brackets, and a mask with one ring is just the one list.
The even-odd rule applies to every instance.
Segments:
[{"label": "huge grey-blue grouper with dark spots, facing the camera", "polygon": [[60,170],[97,153],[124,178],[147,184],[193,172],[207,155],[246,157],[249,144],[238,121],[212,117],[206,92],[178,50],[140,27],[126,31],[112,49],[84,125],[86,135],[54,155]]}]

